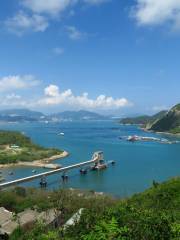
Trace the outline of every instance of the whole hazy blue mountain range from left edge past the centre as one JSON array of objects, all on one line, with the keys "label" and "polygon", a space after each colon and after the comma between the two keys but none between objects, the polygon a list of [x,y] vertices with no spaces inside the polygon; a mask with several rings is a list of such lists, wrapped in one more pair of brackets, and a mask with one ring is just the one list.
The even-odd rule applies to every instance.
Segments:
[{"label": "whole hazy blue mountain range from left edge past the centre", "polygon": [[87,121],[108,120],[110,116],[103,116],[89,111],[65,111],[45,115],[29,109],[8,109],[0,111],[1,122],[59,122],[59,121]]}]

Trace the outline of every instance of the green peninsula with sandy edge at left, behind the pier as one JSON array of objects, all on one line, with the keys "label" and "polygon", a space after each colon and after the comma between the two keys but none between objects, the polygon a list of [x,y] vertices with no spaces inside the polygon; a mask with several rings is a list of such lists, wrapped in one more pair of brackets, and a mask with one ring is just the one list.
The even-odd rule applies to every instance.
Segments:
[{"label": "green peninsula with sandy edge at left, behind the pier", "polygon": [[35,144],[22,133],[0,131],[0,167],[26,165],[44,167],[52,160],[66,157],[67,152]]}]

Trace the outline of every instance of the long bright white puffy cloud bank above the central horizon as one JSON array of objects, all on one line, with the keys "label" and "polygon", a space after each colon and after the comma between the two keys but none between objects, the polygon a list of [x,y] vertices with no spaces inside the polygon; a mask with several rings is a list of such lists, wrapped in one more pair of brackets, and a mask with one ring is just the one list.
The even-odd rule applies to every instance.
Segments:
[{"label": "long bright white puffy cloud bank above the central horizon", "polygon": [[88,93],[75,96],[71,89],[61,92],[56,85],[49,85],[44,90],[45,96],[38,101],[40,106],[69,105],[83,109],[119,109],[132,105],[126,98],[107,97],[99,95],[91,99]]}]

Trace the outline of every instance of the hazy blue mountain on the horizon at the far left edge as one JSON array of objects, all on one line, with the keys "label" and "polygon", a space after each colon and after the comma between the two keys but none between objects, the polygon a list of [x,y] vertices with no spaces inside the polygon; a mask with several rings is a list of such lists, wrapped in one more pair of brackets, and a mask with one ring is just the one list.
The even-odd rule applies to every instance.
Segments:
[{"label": "hazy blue mountain on the horizon at the far left edge", "polygon": [[45,115],[41,112],[31,111],[29,109],[7,109],[0,111],[0,121],[23,122],[39,121],[44,119]]}]

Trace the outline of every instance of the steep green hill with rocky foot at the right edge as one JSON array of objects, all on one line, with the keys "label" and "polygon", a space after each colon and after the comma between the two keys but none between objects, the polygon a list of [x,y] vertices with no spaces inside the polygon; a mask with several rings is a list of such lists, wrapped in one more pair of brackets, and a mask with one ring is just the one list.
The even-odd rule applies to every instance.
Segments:
[{"label": "steep green hill with rocky foot at the right edge", "polygon": [[147,129],[156,132],[180,133],[180,104],[171,108],[161,119],[147,126]]}]

